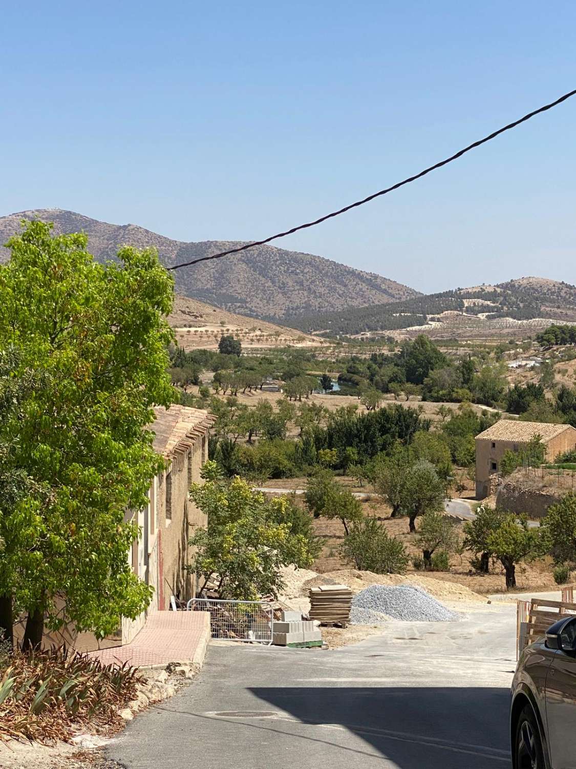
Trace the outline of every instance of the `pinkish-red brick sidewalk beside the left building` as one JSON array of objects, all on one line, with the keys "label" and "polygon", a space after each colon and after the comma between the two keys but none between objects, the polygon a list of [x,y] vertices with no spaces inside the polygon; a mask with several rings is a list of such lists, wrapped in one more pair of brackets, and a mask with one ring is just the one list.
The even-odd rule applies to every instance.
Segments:
[{"label": "pinkish-red brick sidewalk beside the left building", "polygon": [[131,644],[91,651],[89,657],[102,664],[127,662],[135,667],[169,662],[202,664],[210,641],[207,611],[151,611],[144,628]]}]

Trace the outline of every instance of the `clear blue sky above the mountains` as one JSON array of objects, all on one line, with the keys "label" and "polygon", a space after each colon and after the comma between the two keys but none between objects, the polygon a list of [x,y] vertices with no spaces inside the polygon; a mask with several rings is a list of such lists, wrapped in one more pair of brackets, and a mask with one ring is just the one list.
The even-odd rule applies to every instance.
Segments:
[{"label": "clear blue sky above the mountains", "polygon": [[[315,218],[576,88],[557,2],[28,2],[2,9],[0,215],[181,240]],[[571,283],[576,97],[276,245],[421,291]]]}]

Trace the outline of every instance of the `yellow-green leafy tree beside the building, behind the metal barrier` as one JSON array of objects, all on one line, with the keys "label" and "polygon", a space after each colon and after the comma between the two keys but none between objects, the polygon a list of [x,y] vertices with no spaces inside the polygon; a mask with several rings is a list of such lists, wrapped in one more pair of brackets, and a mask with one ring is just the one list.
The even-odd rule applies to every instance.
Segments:
[{"label": "yellow-green leafy tree beside the building, behind the metal barrier", "polygon": [[217,464],[204,465],[204,484],[192,484],[190,498],[208,517],[208,528],[199,528],[190,538],[197,548],[190,570],[204,589],[218,580],[222,598],[255,600],[277,595],[283,588],[280,568],[298,568],[313,562],[313,544],[295,533],[292,505],[286,497],[266,500],[241,478],[223,481]]}]

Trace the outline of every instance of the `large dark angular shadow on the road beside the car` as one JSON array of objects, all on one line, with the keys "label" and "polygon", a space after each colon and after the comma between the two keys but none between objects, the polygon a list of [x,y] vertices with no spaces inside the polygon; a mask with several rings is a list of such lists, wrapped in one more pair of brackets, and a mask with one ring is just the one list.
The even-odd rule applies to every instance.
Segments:
[{"label": "large dark angular shadow on the road beside the car", "polygon": [[362,758],[358,743],[346,747],[346,740],[339,736],[342,732],[362,738],[399,769],[511,766],[510,694],[505,688],[335,686],[252,687],[249,691],[267,703],[266,709],[325,726],[326,731],[319,729],[310,737],[340,743],[336,750],[349,751],[350,767],[361,767]]}]

